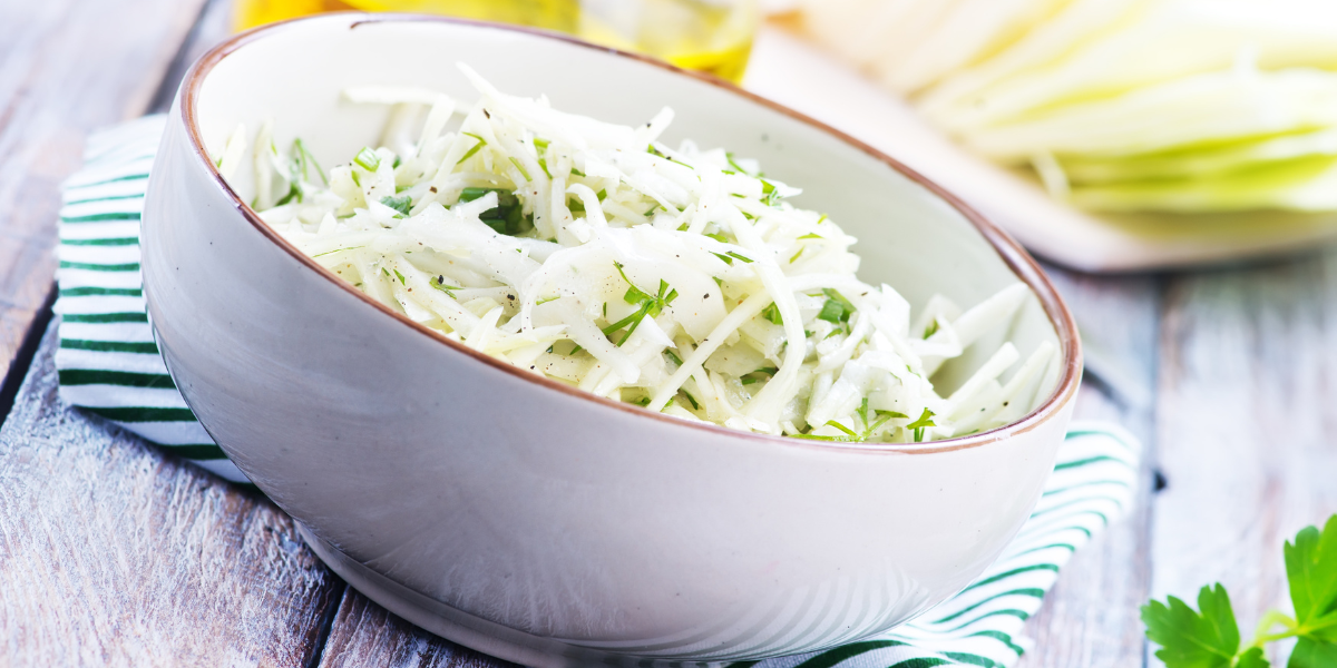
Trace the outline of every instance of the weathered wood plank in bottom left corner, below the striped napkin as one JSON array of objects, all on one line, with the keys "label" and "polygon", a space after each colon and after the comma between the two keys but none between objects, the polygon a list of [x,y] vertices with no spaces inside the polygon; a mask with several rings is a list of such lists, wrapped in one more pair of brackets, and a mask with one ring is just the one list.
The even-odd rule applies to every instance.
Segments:
[{"label": "weathered wood plank in bottom left corner, below the striped napkin", "polygon": [[342,582],[262,496],[64,406],[56,342],[0,430],[0,664],[308,665]]}]

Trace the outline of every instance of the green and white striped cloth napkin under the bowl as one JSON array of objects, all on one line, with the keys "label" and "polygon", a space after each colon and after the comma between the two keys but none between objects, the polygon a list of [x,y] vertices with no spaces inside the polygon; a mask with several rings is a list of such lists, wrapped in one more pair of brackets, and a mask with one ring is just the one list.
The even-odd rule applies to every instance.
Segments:
[{"label": "green and white striped cloth napkin under the bowl", "polygon": [[[246,477],[186,406],[158,354],[139,275],[139,214],[162,116],[94,135],[60,211],[60,395],[227,480]],[[1074,425],[1044,496],[993,566],[919,620],[874,639],[731,668],[1008,668],[1059,568],[1124,513],[1140,448],[1111,425]]]}]

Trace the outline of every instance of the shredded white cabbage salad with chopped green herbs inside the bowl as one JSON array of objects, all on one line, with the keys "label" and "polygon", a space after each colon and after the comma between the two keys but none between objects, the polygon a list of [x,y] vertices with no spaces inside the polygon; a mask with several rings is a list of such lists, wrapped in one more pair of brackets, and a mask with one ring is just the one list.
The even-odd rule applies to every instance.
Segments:
[{"label": "shredded white cabbage salad with chopped green herbs inside the bowl", "polygon": [[[388,104],[378,147],[328,172],[273,124],[215,160],[253,160],[253,207],[372,298],[519,369],[683,420],[822,441],[925,442],[1016,421],[1056,355],[1003,343],[948,397],[931,378],[1007,327],[1015,283],[912,318],[854,273],[854,238],[797,208],[753,160],[658,140],[664,108],[627,127],[504,95],[465,106],[364,87]],[[1011,371],[1011,373],[1009,373]],[[1007,378],[1004,379],[1004,375]]]}]

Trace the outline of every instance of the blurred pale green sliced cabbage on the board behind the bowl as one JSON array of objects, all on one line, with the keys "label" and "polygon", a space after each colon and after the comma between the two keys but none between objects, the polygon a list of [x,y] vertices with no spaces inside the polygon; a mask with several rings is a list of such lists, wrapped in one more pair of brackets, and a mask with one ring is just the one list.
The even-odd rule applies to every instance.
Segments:
[{"label": "blurred pale green sliced cabbage on the board behind the bowl", "polygon": [[1337,210],[1330,0],[805,0],[804,20],[1082,208]]}]

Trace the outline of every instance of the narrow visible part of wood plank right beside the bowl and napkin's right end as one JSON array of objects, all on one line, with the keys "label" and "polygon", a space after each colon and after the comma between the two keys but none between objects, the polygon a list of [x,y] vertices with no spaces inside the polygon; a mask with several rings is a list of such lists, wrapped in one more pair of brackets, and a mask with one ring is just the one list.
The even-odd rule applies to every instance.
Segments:
[{"label": "narrow visible part of wood plank right beside the bowl and napkin's right end", "polygon": [[[1151,450],[1151,398],[1157,369],[1158,302],[1154,278],[1100,278],[1047,267],[1083,330],[1096,370],[1122,374],[1111,382],[1091,371],[1078,398],[1076,418],[1123,425]],[[1143,480],[1151,478],[1151,454]],[[1131,668],[1143,665],[1138,607],[1151,580],[1147,528],[1152,489],[1144,484],[1124,520],[1082,549],[1063,568],[1044,607],[1027,625],[1035,641],[1020,668]]]}]

